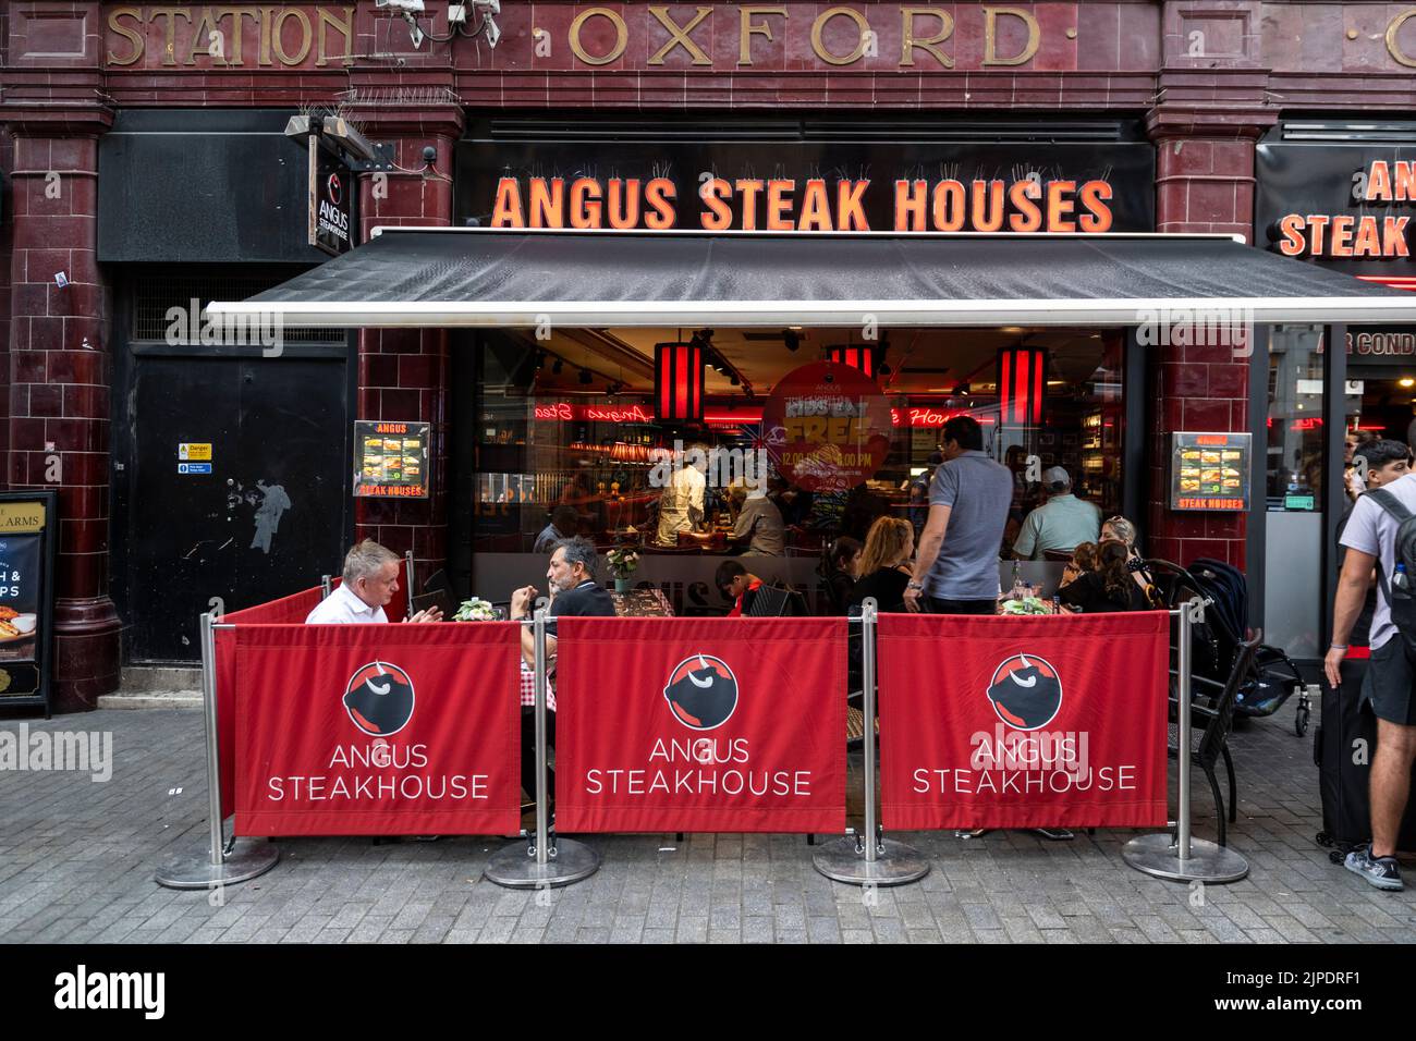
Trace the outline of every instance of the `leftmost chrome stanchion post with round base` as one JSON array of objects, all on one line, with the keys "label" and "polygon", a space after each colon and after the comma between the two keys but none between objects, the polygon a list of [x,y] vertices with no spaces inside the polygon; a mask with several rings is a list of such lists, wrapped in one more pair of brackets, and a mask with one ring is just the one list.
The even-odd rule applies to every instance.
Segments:
[{"label": "leftmost chrome stanchion post with round base", "polygon": [[221,817],[221,748],[217,741],[217,637],[201,616],[201,698],[207,731],[207,817],[210,850],[178,857],[153,877],[169,889],[208,889],[246,882],[275,867],[280,850],[265,840],[232,838],[225,848]]}]

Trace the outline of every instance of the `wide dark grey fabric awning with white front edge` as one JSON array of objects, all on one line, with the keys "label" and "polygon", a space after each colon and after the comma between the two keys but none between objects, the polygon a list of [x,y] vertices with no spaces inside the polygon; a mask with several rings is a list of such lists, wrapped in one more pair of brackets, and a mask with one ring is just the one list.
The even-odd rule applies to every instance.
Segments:
[{"label": "wide dark grey fabric awning with white front edge", "polygon": [[1416,323],[1416,293],[1226,235],[382,228],[214,314],[286,326]]}]

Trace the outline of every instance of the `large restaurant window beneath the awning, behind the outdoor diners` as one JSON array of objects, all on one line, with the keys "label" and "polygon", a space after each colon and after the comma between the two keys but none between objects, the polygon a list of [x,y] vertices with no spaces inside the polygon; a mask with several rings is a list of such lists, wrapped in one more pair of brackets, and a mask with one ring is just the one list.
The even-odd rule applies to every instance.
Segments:
[{"label": "large restaurant window beneath the awning, behind the outdoor diners", "polygon": [[[602,551],[639,545],[633,585],[661,591],[675,613],[722,610],[714,572],[743,550],[756,550],[743,558],[753,574],[803,591],[818,613],[834,613],[827,550],[843,535],[864,541],[882,516],[908,520],[916,533],[923,527],[930,457],[956,415],[977,419],[984,452],[1014,473],[1000,545],[1000,557],[1011,558],[1024,517],[1044,501],[1048,467],[1066,469],[1075,494],[1096,503],[1102,517],[1120,511],[1123,341],[1119,330],[1055,329],[908,329],[878,340],[847,329],[609,329],[542,341],[491,339],[474,405],[473,592],[506,601],[520,585],[544,586],[548,547],[573,530]],[[701,350],[701,422],[660,421],[658,344]],[[1031,367],[1027,394],[1039,397],[1021,402],[1027,409],[1017,401],[1022,384],[1007,382],[1017,371],[1005,375],[1005,358],[1020,351]],[[888,449],[850,487],[811,490],[777,467],[772,398],[783,381],[828,360],[850,364],[878,389]],[[675,445],[700,445],[722,463],[709,467],[701,523],[691,525],[664,513],[681,507],[666,487]],[[753,460],[762,457],[759,474]],[[779,544],[733,545],[731,528],[745,499],[732,484],[772,503],[782,517]],[[599,578],[610,579],[603,562]]]}]

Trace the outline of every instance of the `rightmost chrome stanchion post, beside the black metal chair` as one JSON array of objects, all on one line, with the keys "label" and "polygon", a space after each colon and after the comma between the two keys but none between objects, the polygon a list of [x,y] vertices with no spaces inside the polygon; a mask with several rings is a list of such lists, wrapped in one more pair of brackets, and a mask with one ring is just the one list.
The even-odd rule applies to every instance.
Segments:
[{"label": "rightmost chrome stanchion post, beside the black metal chair", "polygon": [[1170,833],[1141,836],[1121,847],[1121,858],[1137,871],[1177,882],[1238,882],[1249,874],[1249,861],[1226,846],[1195,838],[1189,834],[1189,727],[1191,727],[1191,670],[1194,669],[1194,626],[1205,620],[1205,603],[1195,596],[1178,610],[1180,618],[1177,671],[1180,673],[1177,705],[1177,755],[1180,761],[1180,814],[1174,841]]}]

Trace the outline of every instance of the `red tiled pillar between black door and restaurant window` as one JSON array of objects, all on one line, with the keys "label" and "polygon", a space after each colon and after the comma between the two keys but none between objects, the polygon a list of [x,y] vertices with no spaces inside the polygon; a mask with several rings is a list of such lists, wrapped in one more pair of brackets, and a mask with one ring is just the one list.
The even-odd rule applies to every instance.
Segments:
[{"label": "red tiled pillar between black door and restaurant window", "polygon": [[[411,110],[354,109],[364,135],[388,142],[402,170],[360,177],[360,232],[378,225],[452,222],[453,147],[462,137],[456,106]],[[436,157],[429,164],[423,150]],[[429,499],[361,499],[358,538],[372,538],[399,557],[413,551],[416,582],[447,561],[447,330],[368,329],[358,346],[358,418],[430,423]]]}]

